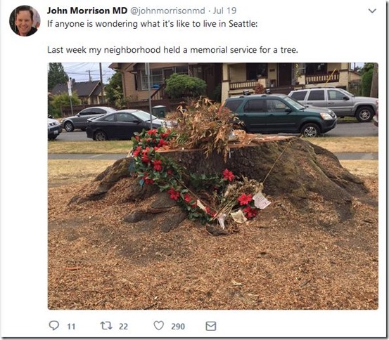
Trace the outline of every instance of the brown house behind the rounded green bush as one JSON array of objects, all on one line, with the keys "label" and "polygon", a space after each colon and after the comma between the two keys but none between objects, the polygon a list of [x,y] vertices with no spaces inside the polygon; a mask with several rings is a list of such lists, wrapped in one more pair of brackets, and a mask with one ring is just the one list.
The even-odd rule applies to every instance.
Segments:
[{"label": "brown house behind the rounded green bush", "polygon": [[[150,63],[151,98],[167,99],[163,89],[173,73],[188,74],[205,80],[207,96],[213,96],[222,81],[221,63]],[[112,63],[113,70],[122,74],[123,94],[132,101],[148,100],[148,75],[145,63]]]}]

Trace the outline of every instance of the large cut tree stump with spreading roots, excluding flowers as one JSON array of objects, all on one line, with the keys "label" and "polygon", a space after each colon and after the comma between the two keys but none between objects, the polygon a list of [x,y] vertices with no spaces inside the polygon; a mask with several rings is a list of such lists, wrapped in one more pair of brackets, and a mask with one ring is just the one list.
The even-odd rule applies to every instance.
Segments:
[{"label": "large cut tree stump with spreading roots, excluding flowers", "polygon": [[[184,166],[188,173],[220,174],[229,169],[236,176],[255,179],[264,183],[263,192],[271,200],[276,200],[278,196],[286,197],[300,214],[315,213],[323,221],[326,216],[336,218],[339,223],[352,218],[355,200],[376,204],[366,195],[368,190],[363,181],[344,169],[333,153],[300,138],[275,136],[249,145],[233,144],[226,160],[217,153],[206,158],[202,150],[161,152]],[[161,200],[160,195],[156,195],[158,188],[139,185],[139,180],[129,174],[132,162],[133,159],[127,157],[109,166],[88,188],[72,198],[70,206],[101,200],[113,192],[116,192],[117,204],[148,200],[155,205]],[[151,207],[136,213],[132,211],[129,216],[123,217],[128,222],[134,222],[139,221],[142,214],[144,219],[150,219],[157,213],[158,216],[167,213],[169,209],[161,212]],[[182,216],[177,223],[181,221]]]}]

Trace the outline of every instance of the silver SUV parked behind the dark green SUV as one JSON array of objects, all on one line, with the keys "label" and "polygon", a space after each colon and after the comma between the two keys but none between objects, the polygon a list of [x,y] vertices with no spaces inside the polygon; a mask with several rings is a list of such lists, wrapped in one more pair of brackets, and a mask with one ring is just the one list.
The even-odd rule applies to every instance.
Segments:
[{"label": "silver SUV parked behind the dark green SUV", "polygon": [[359,122],[370,122],[378,108],[377,98],[357,97],[334,87],[299,89],[289,96],[302,105],[327,107],[338,117],[355,117]]}]

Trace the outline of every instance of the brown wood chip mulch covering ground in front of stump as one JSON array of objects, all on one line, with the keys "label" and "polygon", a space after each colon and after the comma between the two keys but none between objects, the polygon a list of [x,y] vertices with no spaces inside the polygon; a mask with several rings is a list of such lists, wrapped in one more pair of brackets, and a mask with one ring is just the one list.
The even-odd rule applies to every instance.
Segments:
[{"label": "brown wood chip mulch covering ground in front of stump", "polygon": [[[363,179],[377,199],[376,178]],[[301,213],[267,197],[238,233],[215,237],[187,220],[169,233],[125,223],[135,206],[113,194],[70,210],[85,185],[49,188],[51,309],[378,308],[378,207],[356,200],[338,223],[319,198]]]}]

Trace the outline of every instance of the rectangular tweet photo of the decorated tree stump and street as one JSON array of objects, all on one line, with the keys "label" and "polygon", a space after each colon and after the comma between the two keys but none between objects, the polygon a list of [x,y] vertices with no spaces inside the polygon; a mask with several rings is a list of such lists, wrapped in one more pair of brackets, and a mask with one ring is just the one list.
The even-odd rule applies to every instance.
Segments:
[{"label": "rectangular tweet photo of the decorated tree stump and street", "polygon": [[49,63],[48,308],[378,308],[378,64]]}]

